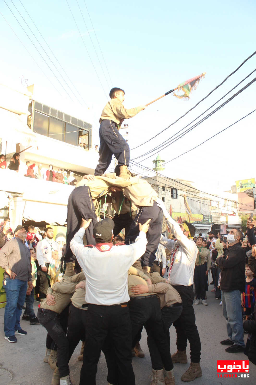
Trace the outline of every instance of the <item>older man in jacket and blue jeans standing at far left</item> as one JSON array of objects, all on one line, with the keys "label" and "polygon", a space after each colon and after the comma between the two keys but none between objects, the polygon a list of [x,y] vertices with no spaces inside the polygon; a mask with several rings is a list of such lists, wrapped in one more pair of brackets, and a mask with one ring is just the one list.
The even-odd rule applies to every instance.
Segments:
[{"label": "older man in jacket and blue jeans standing at far left", "polygon": [[27,285],[32,290],[30,251],[25,245],[27,231],[17,226],[15,239],[8,241],[0,251],[0,266],[5,269],[3,287],[6,293],[4,315],[5,340],[17,342],[15,334],[26,335],[20,326],[22,306],[25,302]]}]

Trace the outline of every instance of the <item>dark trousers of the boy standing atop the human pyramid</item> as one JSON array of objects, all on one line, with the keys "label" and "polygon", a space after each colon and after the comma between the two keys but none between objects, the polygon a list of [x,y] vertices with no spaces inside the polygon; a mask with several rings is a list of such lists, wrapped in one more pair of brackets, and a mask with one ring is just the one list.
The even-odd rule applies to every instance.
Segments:
[{"label": "dark trousers of the boy standing atop the human pyramid", "polygon": [[99,129],[100,149],[99,163],[94,171],[94,175],[102,175],[111,163],[112,155],[115,155],[119,166],[129,166],[130,147],[123,139],[115,122],[103,120]]}]

